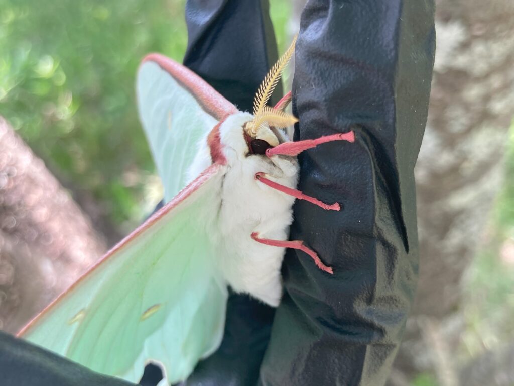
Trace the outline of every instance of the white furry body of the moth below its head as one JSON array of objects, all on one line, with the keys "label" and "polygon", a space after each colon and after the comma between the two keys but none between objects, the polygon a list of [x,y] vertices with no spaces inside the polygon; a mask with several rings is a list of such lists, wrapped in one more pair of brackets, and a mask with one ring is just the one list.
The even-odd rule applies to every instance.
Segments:
[{"label": "white furry body of the moth below its head", "polygon": [[[271,169],[271,170],[270,170]],[[274,170],[273,170],[274,169]],[[248,292],[276,306],[282,295],[280,267],[285,249],[251,238],[287,240],[295,198],[255,180],[255,173],[279,174],[260,156],[250,156],[227,171],[222,188],[219,227],[222,233],[220,262],[227,282],[237,292]],[[274,181],[296,187],[297,174]]]}]

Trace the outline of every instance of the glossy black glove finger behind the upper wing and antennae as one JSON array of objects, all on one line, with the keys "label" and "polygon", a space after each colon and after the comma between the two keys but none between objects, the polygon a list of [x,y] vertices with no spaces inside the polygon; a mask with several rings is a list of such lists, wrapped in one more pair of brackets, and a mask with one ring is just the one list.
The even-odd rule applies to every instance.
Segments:
[{"label": "glossy black glove finger behind the upper wing and antennae", "polygon": [[[242,111],[252,110],[253,96],[278,59],[268,9],[268,0],[186,3],[188,48],[183,64]],[[279,87],[274,97],[282,96]]]}]

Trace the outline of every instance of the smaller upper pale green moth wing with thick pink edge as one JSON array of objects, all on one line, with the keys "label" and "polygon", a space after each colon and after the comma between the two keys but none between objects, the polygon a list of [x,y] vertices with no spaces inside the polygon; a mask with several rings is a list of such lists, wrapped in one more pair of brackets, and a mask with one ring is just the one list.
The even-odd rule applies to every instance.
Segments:
[{"label": "smaller upper pale green moth wing with thick pink edge", "polygon": [[143,60],[136,90],[139,116],[167,202],[186,186],[200,139],[237,109],[189,69],[158,54]]}]

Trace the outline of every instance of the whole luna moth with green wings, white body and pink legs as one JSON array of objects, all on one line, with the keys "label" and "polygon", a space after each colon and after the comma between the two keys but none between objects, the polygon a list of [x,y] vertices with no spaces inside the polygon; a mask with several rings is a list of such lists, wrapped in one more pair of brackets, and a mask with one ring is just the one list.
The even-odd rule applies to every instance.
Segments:
[{"label": "whole luna moth with green wings, white body and pink legs", "polygon": [[267,102],[294,41],[261,84],[253,114],[241,112],[186,67],[158,54],[138,70],[143,129],[164,187],[164,205],[36,316],[19,336],[100,373],[138,381],[161,367],[162,384],[186,379],[221,343],[227,286],[271,306],[282,294],[297,155],[353,132],[289,142],[291,93]]}]

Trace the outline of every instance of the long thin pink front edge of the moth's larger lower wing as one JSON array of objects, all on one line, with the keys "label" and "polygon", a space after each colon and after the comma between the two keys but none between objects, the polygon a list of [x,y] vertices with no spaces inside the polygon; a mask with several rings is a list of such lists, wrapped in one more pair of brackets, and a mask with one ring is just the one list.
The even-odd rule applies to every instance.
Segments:
[{"label": "long thin pink front edge of the moth's larger lower wing", "polygon": [[61,299],[64,296],[72,293],[75,288],[84,280],[89,274],[93,273],[99,267],[104,264],[109,258],[116,256],[116,252],[119,252],[123,248],[129,246],[134,239],[136,239],[142,232],[148,229],[151,225],[159,221],[163,216],[172,212],[175,208],[177,208],[180,204],[183,204],[183,201],[191,196],[196,190],[198,190],[201,186],[203,186],[207,181],[216,176],[216,174],[221,170],[223,166],[219,164],[213,164],[205,169],[193,182],[191,182],[188,186],[183,188],[178,194],[166,205],[160,208],[156,213],[154,213],[148,220],[142,223],[139,227],[136,228],[130,235],[126,236],[123,240],[121,240],[118,244],[115,245],[110,251],[108,251],[102,258],[100,258],[95,265],[91,266],[86,273],[84,273],[74,284],[72,284],[66,291],[61,293],[52,303],[50,303],[43,311],[41,311],[38,315],[36,315],[25,327],[23,327],[17,334],[17,337],[23,337],[31,328],[36,327],[38,325],[38,321],[45,315],[46,312],[51,311],[53,307],[59,305]]}]

